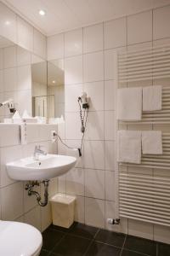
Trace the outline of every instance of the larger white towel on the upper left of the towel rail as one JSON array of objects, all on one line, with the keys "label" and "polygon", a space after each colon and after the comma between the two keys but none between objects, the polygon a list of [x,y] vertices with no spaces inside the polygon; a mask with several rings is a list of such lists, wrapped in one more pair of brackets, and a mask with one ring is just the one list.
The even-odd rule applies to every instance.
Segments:
[{"label": "larger white towel on the upper left of the towel rail", "polygon": [[117,90],[117,119],[140,120],[142,118],[142,88]]}]

